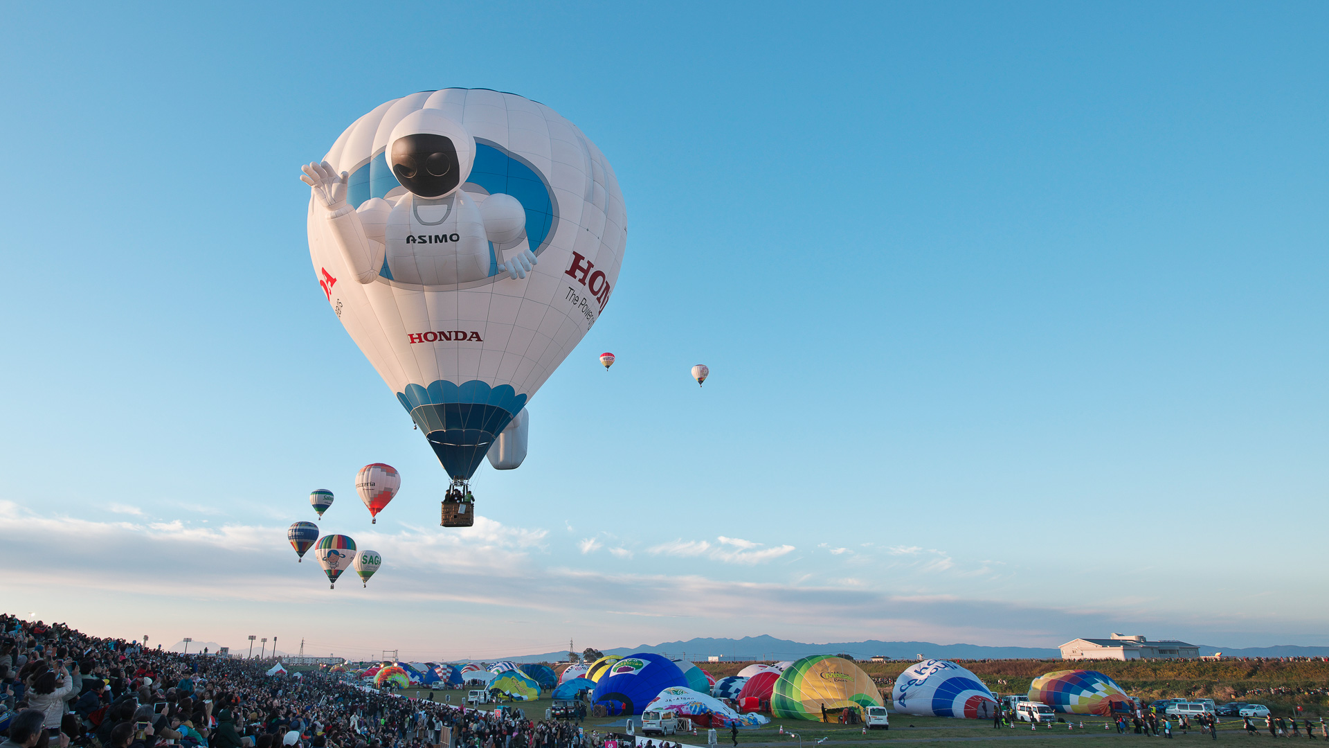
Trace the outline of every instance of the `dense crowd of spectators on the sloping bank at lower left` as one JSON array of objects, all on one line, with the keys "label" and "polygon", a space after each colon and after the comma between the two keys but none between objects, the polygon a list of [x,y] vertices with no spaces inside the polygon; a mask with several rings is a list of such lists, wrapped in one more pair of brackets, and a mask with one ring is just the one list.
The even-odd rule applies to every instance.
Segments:
[{"label": "dense crowd of spectators on the sloping bank at lower left", "polygon": [[601,748],[574,723],[0,615],[0,748]]}]

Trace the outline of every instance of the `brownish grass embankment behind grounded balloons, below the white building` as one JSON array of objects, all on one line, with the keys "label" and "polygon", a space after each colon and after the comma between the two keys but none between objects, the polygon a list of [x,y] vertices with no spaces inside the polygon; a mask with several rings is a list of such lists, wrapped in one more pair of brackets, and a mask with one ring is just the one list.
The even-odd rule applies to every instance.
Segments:
[{"label": "brownish grass embankment behind grounded balloons, below the white building", "polygon": [[[994,693],[1027,693],[1038,676],[1057,669],[1096,669],[1142,700],[1213,699],[1265,704],[1276,713],[1329,716],[1329,663],[1277,660],[957,660]],[[735,675],[752,663],[699,663],[715,677]],[[886,697],[889,683],[910,661],[857,663],[877,680]]]}]

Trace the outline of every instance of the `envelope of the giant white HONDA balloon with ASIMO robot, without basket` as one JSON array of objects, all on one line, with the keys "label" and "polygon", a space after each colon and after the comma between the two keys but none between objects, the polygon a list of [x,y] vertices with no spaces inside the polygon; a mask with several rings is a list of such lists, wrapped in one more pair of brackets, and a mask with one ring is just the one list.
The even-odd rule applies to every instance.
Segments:
[{"label": "envelope of the giant white HONDA balloon with ASIMO robot, without basket", "polygon": [[315,280],[453,488],[486,455],[520,466],[518,417],[618,282],[605,156],[544,104],[449,88],[380,104],[303,170]]}]

